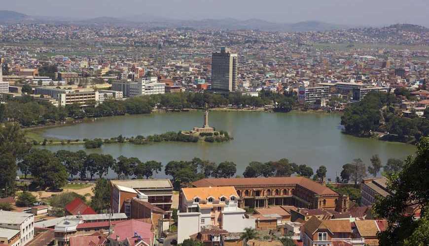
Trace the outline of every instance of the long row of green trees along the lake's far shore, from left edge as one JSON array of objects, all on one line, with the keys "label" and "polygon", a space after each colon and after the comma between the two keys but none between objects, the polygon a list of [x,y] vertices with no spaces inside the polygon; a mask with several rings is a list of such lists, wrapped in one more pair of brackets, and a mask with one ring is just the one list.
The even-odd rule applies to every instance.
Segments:
[{"label": "long row of green trees along the lake's far shore, from left edge", "polygon": [[18,122],[22,126],[43,125],[83,118],[100,118],[125,114],[147,114],[153,108],[182,110],[184,108],[236,106],[262,107],[275,104],[276,110],[288,112],[292,109],[294,98],[272,92],[260,92],[259,96],[242,95],[239,92],[217,94],[211,92],[181,92],[130,97],[125,100],[107,100],[101,104],[89,102],[87,106],[75,103],[64,107],[55,107],[48,102],[35,101],[30,95],[10,98],[0,105],[0,122]]}]

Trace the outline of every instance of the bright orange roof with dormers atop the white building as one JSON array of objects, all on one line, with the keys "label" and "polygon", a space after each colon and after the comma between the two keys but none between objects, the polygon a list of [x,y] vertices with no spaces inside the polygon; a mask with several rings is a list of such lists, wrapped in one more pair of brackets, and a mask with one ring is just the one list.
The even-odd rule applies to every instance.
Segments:
[{"label": "bright orange roof with dormers atop the white building", "polygon": [[233,186],[182,188],[182,193],[187,201],[191,201],[195,197],[201,199],[213,197],[216,200],[220,200],[222,196],[226,197],[226,199],[229,199],[230,196],[238,197],[237,191]]}]

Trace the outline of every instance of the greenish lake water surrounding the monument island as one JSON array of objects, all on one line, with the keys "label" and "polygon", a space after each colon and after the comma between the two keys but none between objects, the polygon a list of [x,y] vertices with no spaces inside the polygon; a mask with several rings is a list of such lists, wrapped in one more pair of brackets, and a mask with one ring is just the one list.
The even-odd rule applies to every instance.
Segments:
[{"label": "greenish lake water surrounding the monument island", "polygon": [[[152,113],[101,118],[90,123],[48,128],[44,136],[60,139],[110,138],[119,134],[131,137],[160,134],[167,131],[190,130],[203,124],[202,111]],[[341,132],[340,115],[320,113],[267,113],[242,111],[212,111],[209,123],[217,130],[226,130],[234,140],[226,143],[161,142],[150,145],[105,144],[87,153],[138,157],[141,161],[157,160],[165,166],[171,160],[191,160],[194,156],[216,163],[228,160],[237,164],[242,175],[250,161],[266,162],[288,158],[297,164],[311,166],[316,172],[321,165],[327,177],[339,176],[342,165],[354,158],[365,163],[378,154],[382,163],[388,158],[404,159],[416,147],[402,143],[357,138]],[[83,145],[46,146],[51,151],[77,151]],[[112,172],[107,177],[116,175]],[[163,173],[156,178],[165,177]]]}]

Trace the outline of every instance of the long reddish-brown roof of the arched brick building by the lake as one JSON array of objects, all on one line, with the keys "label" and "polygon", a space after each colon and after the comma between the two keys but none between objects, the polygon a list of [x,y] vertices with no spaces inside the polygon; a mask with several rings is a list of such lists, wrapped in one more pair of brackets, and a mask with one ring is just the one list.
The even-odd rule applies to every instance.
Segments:
[{"label": "long reddish-brown roof of the arched brick building by the lake", "polygon": [[272,185],[282,186],[285,184],[293,185],[298,184],[306,189],[309,189],[317,194],[338,194],[332,189],[314,182],[305,177],[269,177],[269,178],[207,178],[195,181],[192,183],[196,187],[210,187],[210,186],[260,186]]}]

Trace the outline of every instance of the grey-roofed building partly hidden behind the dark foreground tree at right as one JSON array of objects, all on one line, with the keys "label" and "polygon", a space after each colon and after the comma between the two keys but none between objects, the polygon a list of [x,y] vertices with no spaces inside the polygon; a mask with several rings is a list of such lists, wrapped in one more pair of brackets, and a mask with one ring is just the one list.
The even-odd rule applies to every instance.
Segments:
[{"label": "grey-roofed building partly hidden behind the dark foreground tree at right", "polygon": [[392,193],[387,189],[385,177],[364,179],[362,181],[362,205],[370,206],[376,201],[376,197],[386,197]]}]

